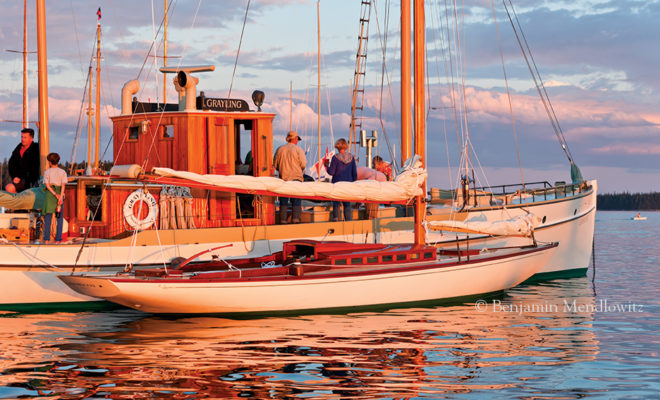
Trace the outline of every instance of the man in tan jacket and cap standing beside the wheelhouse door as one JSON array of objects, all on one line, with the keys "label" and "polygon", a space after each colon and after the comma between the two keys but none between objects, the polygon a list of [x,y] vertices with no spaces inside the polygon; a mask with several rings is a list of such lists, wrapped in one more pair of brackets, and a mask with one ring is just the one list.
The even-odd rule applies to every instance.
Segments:
[{"label": "man in tan jacket and cap standing beside the wheelhouse door", "polygon": [[[302,140],[296,131],[286,135],[287,144],[280,146],[275,151],[273,166],[280,173],[280,178],[285,181],[303,181],[303,171],[307,166],[307,158],[303,149],[298,147],[298,141]],[[280,223],[288,222],[289,202],[291,202],[291,222],[300,223],[302,205],[299,198],[280,197]]]}]

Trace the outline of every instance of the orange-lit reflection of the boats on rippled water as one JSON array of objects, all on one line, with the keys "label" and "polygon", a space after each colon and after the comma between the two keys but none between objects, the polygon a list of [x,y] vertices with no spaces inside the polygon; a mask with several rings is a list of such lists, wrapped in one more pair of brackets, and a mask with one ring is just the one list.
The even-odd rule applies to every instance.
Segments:
[{"label": "orange-lit reflection of the boats on rippled water", "polygon": [[0,398],[533,396],[553,380],[561,393],[560,382],[579,374],[571,365],[599,351],[593,313],[567,311],[563,299],[593,303],[589,280],[519,287],[481,312],[466,304],[258,320],[124,310],[6,317]]}]

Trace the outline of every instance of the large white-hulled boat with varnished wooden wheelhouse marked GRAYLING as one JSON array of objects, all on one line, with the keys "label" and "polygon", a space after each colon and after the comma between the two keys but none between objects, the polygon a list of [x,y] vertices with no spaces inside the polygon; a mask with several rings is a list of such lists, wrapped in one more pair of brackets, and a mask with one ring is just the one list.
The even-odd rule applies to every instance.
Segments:
[{"label": "large white-hulled boat with varnished wooden wheelhouse marked GRAYLING", "polygon": [[[45,29],[43,23],[38,27]],[[47,70],[45,57],[39,70]],[[244,100],[216,99],[198,93],[198,80],[190,73],[200,72],[199,68],[180,68],[176,72],[178,104],[139,101],[133,97],[138,91],[137,83],[125,85],[121,114],[111,118],[113,159],[117,164],[138,163],[143,171],[167,167],[215,175],[235,175],[240,173],[240,167],[247,166],[252,177],[270,176],[275,115],[250,110]],[[41,86],[47,88],[45,79],[43,82]],[[47,95],[41,95],[40,99],[40,104],[47,104]],[[420,103],[424,102],[420,100]],[[45,131],[40,132],[40,136],[44,138],[47,138],[47,115],[47,112],[40,113]],[[44,138],[39,139],[42,144]],[[252,164],[241,164],[246,156],[241,151],[248,149],[253,155]],[[388,213],[375,220],[357,215],[358,218],[348,222],[328,222],[318,218],[323,214],[314,210],[303,214],[303,219],[306,216],[308,219],[301,225],[281,225],[276,219],[277,197],[273,194],[223,192],[190,182],[124,172],[127,173],[76,176],[67,185],[64,215],[68,220],[65,233],[68,240],[65,243],[39,243],[34,217],[27,224],[23,224],[26,214],[7,214],[0,218],[0,225],[6,222],[11,232],[20,231],[15,237],[0,237],[3,254],[0,309],[40,310],[47,305],[67,307],[94,300],[62,284],[56,278],[57,273],[113,274],[127,266],[150,268],[227,244],[232,245],[226,249],[227,257],[242,258],[272,254],[282,249],[285,242],[301,238],[383,244],[414,241],[413,218],[390,214],[392,208],[383,209]],[[593,185],[575,187],[564,191],[563,196],[545,197],[533,204],[510,205],[506,209],[484,206],[452,217],[493,221],[510,218],[511,213],[521,214],[525,209],[547,217],[537,229],[537,239],[557,241],[560,245],[541,272],[548,268],[553,273],[584,271],[593,237],[595,191],[593,182]],[[244,207],[246,204],[249,207]],[[417,215],[422,218],[424,211]],[[430,215],[428,218],[449,216]],[[20,229],[13,229],[14,225]],[[465,239],[462,236],[459,241],[462,243]],[[479,240],[478,245],[482,247],[527,244],[520,238],[493,239],[489,235],[481,238],[472,235],[471,240],[473,245]],[[455,245],[453,235],[432,234],[429,241],[441,246]],[[201,261],[208,261],[210,257],[204,254]]]}]

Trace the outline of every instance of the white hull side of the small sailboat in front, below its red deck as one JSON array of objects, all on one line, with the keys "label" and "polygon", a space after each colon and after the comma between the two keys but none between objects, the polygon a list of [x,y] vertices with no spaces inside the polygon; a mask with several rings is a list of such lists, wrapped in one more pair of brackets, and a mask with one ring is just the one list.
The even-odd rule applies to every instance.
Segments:
[{"label": "white hull side of the small sailboat in front, below its red deck", "polygon": [[60,278],[87,295],[150,313],[291,312],[412,303],[498,292],[534,275],[555,250],[537,249],[456,266],[441,264],[398,272],[288,277],[270,281],[190,282],[175,279],[154,282],[132,277],[70,275]]}]

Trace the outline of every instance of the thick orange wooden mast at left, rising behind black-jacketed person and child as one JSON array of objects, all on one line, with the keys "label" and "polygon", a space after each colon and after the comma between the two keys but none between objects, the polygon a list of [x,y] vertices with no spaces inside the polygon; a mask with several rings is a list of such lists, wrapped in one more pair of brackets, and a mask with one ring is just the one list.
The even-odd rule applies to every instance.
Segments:
[{"label": "thick orange wooden mast at left, rising behind black-jacketed person and child", "polygon": [[37,69],[39,77],[39,158],[41,173],[48,168],[48,70],[46,54],[46,0],[37,2]]}]

